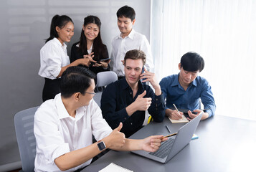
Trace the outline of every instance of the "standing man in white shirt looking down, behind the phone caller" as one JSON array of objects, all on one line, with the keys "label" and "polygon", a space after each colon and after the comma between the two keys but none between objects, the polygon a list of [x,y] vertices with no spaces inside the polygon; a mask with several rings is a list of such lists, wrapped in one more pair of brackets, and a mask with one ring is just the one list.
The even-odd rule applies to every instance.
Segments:
[{"label": "standing man in white shirt looking down, behind the phone caller", "polygon": [[110,67],[117,75],[118,79],[125,76],[123,68],[123,59],[125,53],[131,49],[142,50],[146,54],[146,68],[153,70],[153,57],[151,47],[145,35],[139,34],[133,29],[136,21],[136,13],[130,6],[123,6],[116,13],[118,17],[118,28],[120,35],[114,37],[112,41],[112,53]]}]

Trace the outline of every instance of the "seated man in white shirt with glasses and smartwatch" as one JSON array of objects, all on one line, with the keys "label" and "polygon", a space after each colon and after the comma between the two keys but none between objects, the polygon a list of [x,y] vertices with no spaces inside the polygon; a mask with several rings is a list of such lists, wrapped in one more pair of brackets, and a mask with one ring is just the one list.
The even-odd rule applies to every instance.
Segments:
[{"label": "seated man in white shirt with glasses and smartwatch", "polygon": [[[84,67],[68,67],[60,81],[60,94],[45,101],[34,116],[37,140],[35,171],[77,171],[106,148],[116,151],[156,151],[163,135],[142,140],[125,138],[112,130],[93,100],[95,75]],[[92,135],[98,140],[93,143]]]}]

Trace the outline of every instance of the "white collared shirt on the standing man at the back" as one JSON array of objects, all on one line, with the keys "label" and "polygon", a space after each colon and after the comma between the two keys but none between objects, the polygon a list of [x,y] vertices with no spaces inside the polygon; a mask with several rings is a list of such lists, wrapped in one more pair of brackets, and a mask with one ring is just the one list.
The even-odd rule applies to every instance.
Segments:
[{"label": "white collared shirt on the standing man at the back", "polygon": [[148,70],[153,70],[153,57],[151,54],[151,47],[146,39],[145,35],[135,32],[134,29],[131,30],[128,37],[122,38],[122,34],[116,36],[112,41],[112,53],[110,67],[118,77],[123,77],[125,75],[123,62],[125,53],[131,49],[140,49],[146,54],[146,68]]}]

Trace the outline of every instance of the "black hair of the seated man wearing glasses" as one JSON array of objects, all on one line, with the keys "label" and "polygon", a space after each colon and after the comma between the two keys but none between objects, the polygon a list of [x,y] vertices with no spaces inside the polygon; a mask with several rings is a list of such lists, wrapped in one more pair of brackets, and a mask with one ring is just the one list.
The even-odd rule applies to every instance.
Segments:
[{"label": "black hair of the seated man wearing glasses", "polygon": [[85,91],[95,80],[95,74],[85,67],[68,67],[60,79],[60,93],[62,97],[71,97],[75,92],[85,95]]}]

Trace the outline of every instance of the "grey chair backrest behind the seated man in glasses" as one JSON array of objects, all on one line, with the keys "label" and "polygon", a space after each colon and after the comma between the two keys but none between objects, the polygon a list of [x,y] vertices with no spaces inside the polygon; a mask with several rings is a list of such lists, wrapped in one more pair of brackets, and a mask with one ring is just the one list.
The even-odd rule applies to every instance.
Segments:
[{"label": "grey chair backrest behind the seated man in glasses", "polygon": [[[34,113],[39,106],[22,110],[14,115],[14,126],[22,160],[22,171],[34,171],[37,143],[34,137]],[[21,172],[21,171],[20,171]]]}]

